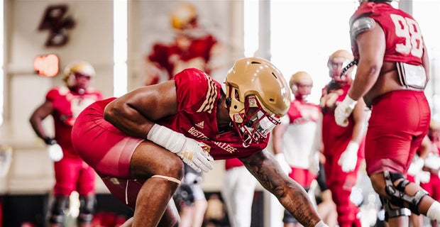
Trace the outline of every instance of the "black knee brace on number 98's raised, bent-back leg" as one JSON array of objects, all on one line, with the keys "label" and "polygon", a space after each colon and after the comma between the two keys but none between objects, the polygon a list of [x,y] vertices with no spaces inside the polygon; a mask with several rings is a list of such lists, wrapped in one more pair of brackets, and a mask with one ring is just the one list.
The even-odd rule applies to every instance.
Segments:
[{"label": "black knee brace on number 98's raised, bent-back leg", "polygon": [[[389,171],[384,171],[383,174],[385,176],[386,184],[385,192],[391,196],[390,203],[395,206],[404,207],[404,202],[407,202],[409,210],[411,210],[412,213],[419,215],[417,206],[419,205],[420,200],[422,200],[422,197],[427,195],[427,192],[419,190],[416,194],[409,195],[405,192],[405,187],[407,187],[409,181],[405,179],[402,174]],[[402,179],[402,181],[400,181],[397,186],[394,186],[393,182],[397,179]]]}]

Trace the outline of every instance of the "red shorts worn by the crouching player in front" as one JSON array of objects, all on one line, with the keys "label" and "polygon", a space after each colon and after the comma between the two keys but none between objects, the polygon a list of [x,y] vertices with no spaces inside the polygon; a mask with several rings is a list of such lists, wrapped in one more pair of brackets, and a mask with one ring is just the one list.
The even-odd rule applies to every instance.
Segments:
[{"label": "red shorts worn by the crouching player in front", "polygon": [[72,128],[72,143],[111,194],[134,207],[144,181],[131,177],[130,160],[143,139],[127,136],[104,120],[104,106],[104,102],[98,101],[79,114]]}]

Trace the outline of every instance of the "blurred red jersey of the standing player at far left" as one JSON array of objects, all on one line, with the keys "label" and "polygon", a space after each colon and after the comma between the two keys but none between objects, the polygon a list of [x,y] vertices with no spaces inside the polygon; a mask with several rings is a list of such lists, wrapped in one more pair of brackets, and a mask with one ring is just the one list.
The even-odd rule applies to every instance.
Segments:
[{"label": "blurred red jersey of the standing player at far left", "polygon": [[72,148],[72,126],[75,118],[87,106],[103,99],[100,92],[92,91],[77,94],[67,87],[55,87],[46,94],[46,100],[53,106],[53,121],[55,126],[55,140],[60,144],[65,155],[77,156]]}]

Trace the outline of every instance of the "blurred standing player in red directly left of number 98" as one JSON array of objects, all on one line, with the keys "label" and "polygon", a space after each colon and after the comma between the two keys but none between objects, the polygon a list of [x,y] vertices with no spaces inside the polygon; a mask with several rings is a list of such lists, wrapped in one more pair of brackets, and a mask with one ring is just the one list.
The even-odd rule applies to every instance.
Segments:
[{"label": "blurred standing player in red directly left of number 98", "polygon": [[323,112],[322,141],[326,162],[324,170],[327,186],[338,211],[341,227],[361,226],[359,208],[350,200],[352,188],[358,179],[358,168],[364,157],[365,104],[359,101],[346,127],[336,124],[334,110],[351,87],[353,68],[341,74],[342,69],[353,61],[347,50],[336,50],[329,56],[327,66],[331,82],[322,89],[320,106]]}]

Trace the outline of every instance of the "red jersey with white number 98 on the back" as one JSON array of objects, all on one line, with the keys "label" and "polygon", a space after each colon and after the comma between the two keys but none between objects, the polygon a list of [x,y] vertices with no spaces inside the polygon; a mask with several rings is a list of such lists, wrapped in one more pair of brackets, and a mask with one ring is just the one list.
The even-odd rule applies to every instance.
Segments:
[{"label": "red jersey with white number 98 on the back", "polygon": [[[368,2],[359,6],[351,16],[350,28],[361,16],[373,18],[383,28],[386,40],[385,61],[422,65],[424,40],[419,24],[411,15],[390,4]],[[355,59],[359,59],[354,37],[351,37],[351,48]]]}]

